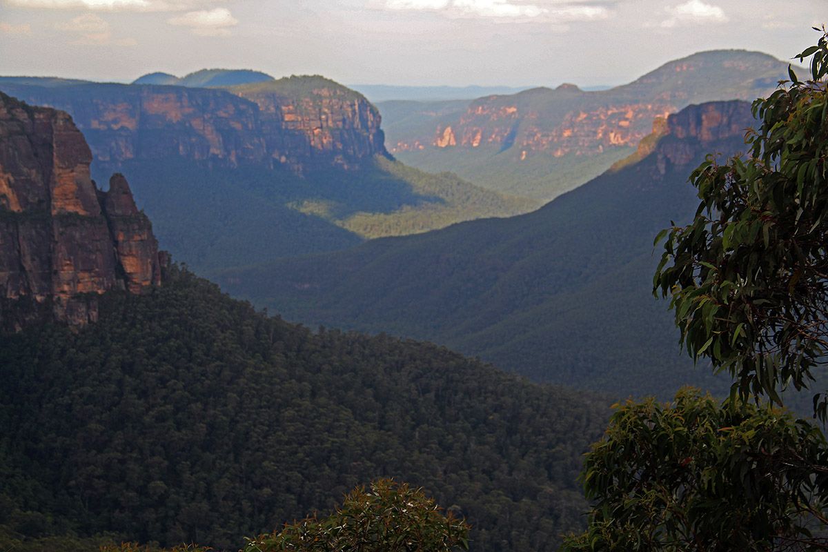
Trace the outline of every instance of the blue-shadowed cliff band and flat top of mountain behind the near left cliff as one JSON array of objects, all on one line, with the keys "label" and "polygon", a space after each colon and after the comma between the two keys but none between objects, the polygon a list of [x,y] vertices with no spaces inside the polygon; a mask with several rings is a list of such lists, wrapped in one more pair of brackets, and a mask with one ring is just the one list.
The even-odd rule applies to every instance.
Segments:
[{"label": "blue-shadowed cliff band and flat top of mountain behind the near left cliff", "polygon": [[387,154],[376,108],[317,77],[229,89],[0,82],[26,102],[70,113],[95,159],[185,158],[214,166],[286,166],[297,173],[358,167]]}]

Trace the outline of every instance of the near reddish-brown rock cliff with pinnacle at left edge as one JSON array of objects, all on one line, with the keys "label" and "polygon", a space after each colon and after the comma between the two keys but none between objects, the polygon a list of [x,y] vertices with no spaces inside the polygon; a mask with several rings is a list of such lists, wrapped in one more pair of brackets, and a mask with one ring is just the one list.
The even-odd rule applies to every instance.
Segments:
[{"label": "near reddish-brown rock cliff with pinnacle at left edge", "polygon": [[126,180],[89,178],[92,154],[66,113],[0,94],[0,327],[97,318],[94,295],[161,283],[147,217]]}]

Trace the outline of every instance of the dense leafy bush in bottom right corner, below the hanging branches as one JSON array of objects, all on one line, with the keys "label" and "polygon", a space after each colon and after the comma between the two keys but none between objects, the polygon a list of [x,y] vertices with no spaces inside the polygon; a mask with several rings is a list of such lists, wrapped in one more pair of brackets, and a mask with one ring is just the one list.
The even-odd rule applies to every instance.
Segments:
[{"label": "dense leafy bush in bottom right corner, below the hanging branches", "polygon": [[825,522],[826,462],[821,431],[781,410],[692,389],[672,405],[628,401],[587,455],[589,530],[564,550],[825,550],[811,530]]}]

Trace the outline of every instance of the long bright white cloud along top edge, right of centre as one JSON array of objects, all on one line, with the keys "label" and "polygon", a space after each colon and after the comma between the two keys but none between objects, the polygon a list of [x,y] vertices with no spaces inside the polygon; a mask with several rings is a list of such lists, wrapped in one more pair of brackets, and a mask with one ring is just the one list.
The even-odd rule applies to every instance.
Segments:
[{"label": "long bright white cloud along top edge, right of centre", "polygon": [[390,10],[440,12],[449,17],[542,18],[558,23],[605,19],[606,7],[556,0],[385,0]]}]

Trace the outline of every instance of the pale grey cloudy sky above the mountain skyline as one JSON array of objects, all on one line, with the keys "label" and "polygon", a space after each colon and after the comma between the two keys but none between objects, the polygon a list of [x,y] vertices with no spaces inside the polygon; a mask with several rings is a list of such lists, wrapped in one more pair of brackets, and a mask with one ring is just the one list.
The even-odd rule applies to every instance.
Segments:
[{"label": "pale grey cloudy sky above the mountain skyline", "polygon": [[700,50],[790,59],[828,0],[0,0],[0,74],[615,85]]}]

